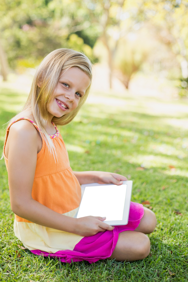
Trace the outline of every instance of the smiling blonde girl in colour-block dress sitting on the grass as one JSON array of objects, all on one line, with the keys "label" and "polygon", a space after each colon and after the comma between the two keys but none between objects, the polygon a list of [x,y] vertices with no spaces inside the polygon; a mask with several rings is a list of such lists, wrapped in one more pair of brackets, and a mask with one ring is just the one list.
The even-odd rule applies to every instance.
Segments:
[{"label": "smiling blonde girl in colour-block dress sitting on the grass", "polygon": [[[41,62],[28,100],[10,120],[4,146],[14,232],[34,254],[62,262],[99,259],[134,261],[150,252],[147,235],[156,217],[131,202],[129,222],[109,226],[105,218],[74,218],[81,200],[80,184],[121,185],[126,177],[109,172],[76,172],[56,127],[69,123],[85,102],[92,79],[89,59],[58,49]],[[101,195],[102,196],[102,195]]]}]

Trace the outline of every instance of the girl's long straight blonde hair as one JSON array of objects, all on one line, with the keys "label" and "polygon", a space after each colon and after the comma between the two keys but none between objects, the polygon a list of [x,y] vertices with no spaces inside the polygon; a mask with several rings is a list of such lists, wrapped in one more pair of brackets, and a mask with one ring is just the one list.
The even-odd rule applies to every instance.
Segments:
[{"label": "girl's long straight blonde hair", "polygon": [[[71,67],[79,68],[92,80],[92,64],[84,54],[72,49],[64,48],[54,50],[48,54],[37,69],[32,82],[30,94],[23,107],[23,111],[31,110],[32,115],[34,116],[34,122],[36,122],[39,127],[40,134],[45,139],[48,149],[53,155],[54,153],[56,155],[55,147],[46,131],[48,105],[53,97],[54,89],[56,88],[61,72],[70,69]],[[68,124],[76,116],[87,99],[89,90],[90,86],[87,88],[83,98],[79,100],[76,109],[60,118],[54,116],[52,121],[56,125]],[[13,120],[15,120],[15,117],[10,120],[9,124]]]}]

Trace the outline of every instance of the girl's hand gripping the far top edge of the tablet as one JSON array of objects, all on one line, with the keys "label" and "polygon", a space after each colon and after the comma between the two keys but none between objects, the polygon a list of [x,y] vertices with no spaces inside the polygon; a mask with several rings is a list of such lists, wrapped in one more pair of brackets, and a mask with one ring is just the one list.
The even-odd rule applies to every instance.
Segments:
[{"label": "girl's hand gripping the far top edge of the tablet", "polygon": [[105,171],[95,171],[98,176],[98,182],[99,184],[105,184],[105,183],[112,183],[117,186],[122,185],[123,181],[127,180],[127,177],[117,174],[117,173],[111,173],[111,172],[105,172]]}]

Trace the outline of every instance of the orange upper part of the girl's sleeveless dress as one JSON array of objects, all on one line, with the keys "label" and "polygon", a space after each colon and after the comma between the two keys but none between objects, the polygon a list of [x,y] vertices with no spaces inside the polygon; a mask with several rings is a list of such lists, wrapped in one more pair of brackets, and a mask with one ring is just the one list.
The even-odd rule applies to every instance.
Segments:
[{"label": "orange upper part of the girl's sleeveless dress", "polygon": [[[10,126],[22,119],[30,121],[39,131],[37,125],[29,118],[19,118],[8,126],[6,130],[5,145]],[[63,138],[55,124],[53,125],[56,128],[56,133],[50,135],[50,138],[53,140],[58,158],[55,161],[53,154],[50,154],[48,147],[45,144],[45,140],[42,139],[42,149],[37,154],[32,198],[51,210],[64,214],[79,207],[81,201],[81,187],[78,179],[70,168],[68,153]],[[8,159],[5,156],[5,145],[3,154],[6,168],[8,168]],[[15,219],[18,222],[30,222],[17,215],[15,215]]]}]

